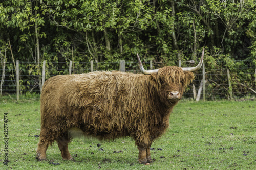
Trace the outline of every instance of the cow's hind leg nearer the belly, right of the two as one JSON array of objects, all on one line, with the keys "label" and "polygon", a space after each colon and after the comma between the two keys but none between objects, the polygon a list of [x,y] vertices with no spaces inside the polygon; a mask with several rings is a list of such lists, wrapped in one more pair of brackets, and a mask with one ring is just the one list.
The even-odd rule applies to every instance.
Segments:
[{"label": "cow's hind leg nearer the belly, right of the two", "polygon": [[70,138],[68,133],[65,133],[61,138],[58,138],[57,143],[59,150],[61,152],[61,156],[64,160],[74,160],[74,158],[70,155],[68,149],[68,143],[70,142]]}]

